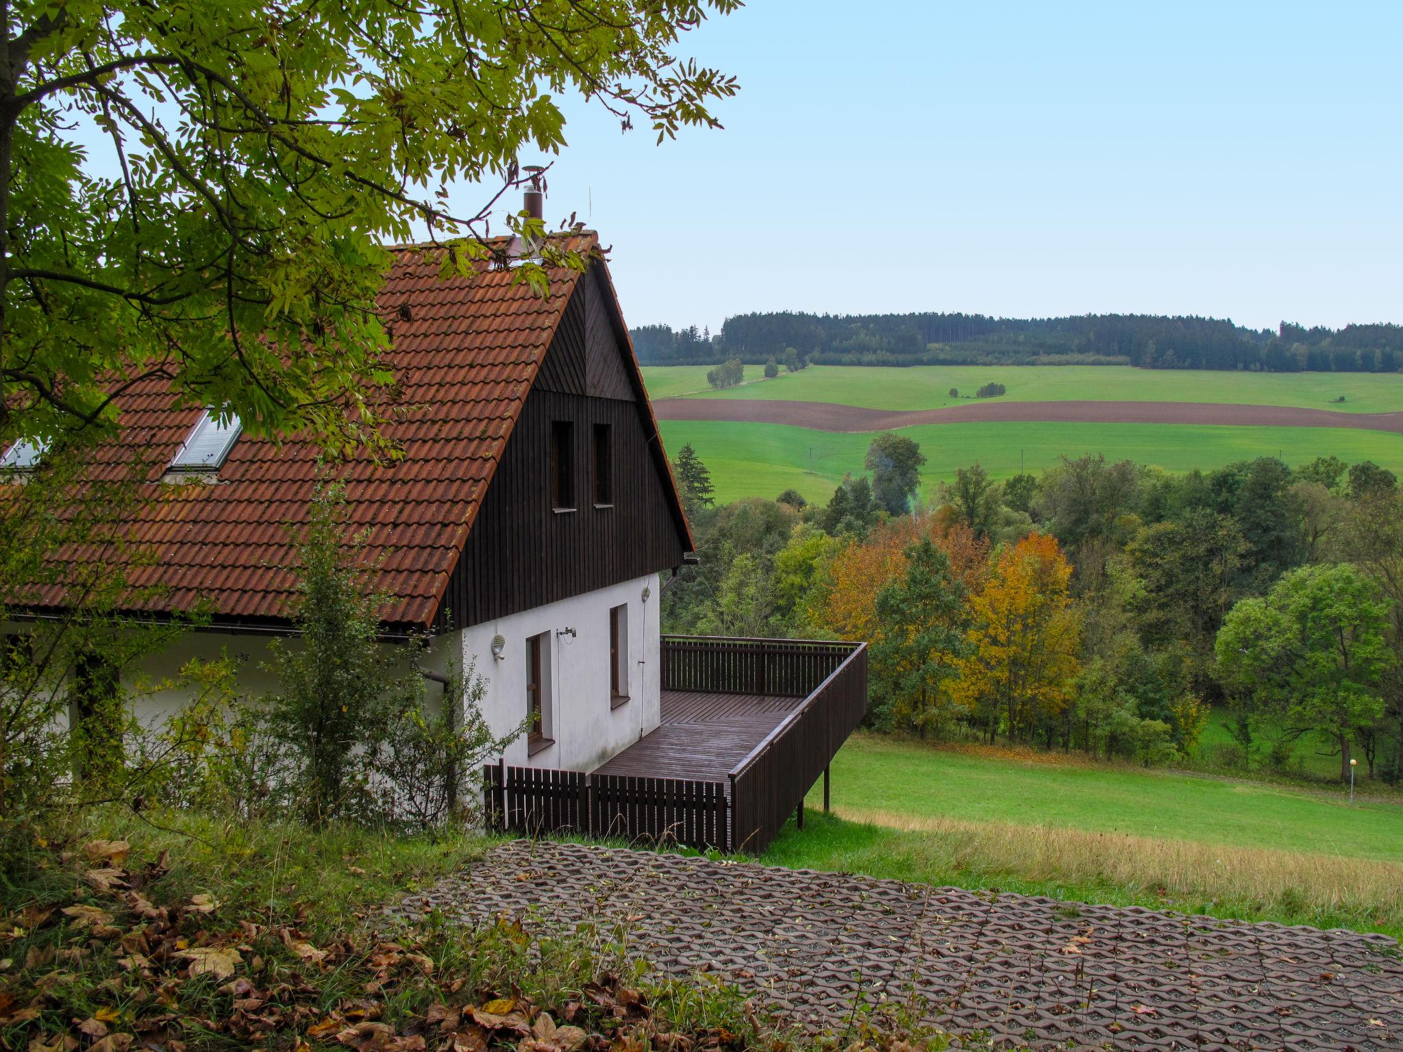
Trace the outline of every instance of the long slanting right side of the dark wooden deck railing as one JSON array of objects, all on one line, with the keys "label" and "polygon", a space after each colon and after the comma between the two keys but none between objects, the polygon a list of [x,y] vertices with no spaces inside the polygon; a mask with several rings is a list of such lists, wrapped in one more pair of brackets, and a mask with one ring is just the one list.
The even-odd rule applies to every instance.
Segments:
[{"label": "long slanting right side of the dark wooden deck railing", "polygon": [[759,854],[798,809],[867,711],[867,644],[731,769],[731,850]]}]

